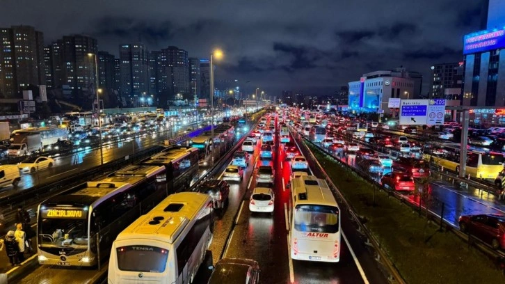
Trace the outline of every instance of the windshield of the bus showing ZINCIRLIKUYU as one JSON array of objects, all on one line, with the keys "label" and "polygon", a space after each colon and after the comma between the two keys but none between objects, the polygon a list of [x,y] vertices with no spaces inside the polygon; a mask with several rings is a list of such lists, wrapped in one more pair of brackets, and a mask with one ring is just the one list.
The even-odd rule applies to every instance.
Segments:
[{"label": "windshield of the bus showing ZINCIRLIKUYU", "polygon": [[42,246],[88,246],[88,219],[46,218],[38,224]]}]

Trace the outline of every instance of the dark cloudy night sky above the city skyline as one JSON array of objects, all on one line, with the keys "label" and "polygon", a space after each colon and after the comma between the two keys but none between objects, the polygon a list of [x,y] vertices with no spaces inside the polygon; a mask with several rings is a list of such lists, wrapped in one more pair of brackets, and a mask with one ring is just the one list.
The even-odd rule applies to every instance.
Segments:
[{"label": "dark cloudy night sky above the city skyline", "polygon": [[480,1],[35,1],[2,0],[0,26],[26,24],[45,43],[72,33],[97,38],[99,50],[141,41],[206,58],[221,47],[216,80],[331,95],[365,72],[399,67],[422,72],[462,61],[463,35],[479,30]]}]

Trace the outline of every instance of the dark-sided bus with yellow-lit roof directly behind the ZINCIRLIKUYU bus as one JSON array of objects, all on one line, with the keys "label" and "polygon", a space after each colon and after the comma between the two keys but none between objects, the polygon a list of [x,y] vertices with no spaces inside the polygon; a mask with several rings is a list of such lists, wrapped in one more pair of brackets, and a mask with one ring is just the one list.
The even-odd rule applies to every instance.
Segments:
[{"label": "dark-sided bus with yellow-lit roof directly behind the ZINCIRLIKUYU bus", "polygon": [[166,167],[169,194],[185,191],[198,180],[198,149],[194,147],[166,148],[141,164]]}]

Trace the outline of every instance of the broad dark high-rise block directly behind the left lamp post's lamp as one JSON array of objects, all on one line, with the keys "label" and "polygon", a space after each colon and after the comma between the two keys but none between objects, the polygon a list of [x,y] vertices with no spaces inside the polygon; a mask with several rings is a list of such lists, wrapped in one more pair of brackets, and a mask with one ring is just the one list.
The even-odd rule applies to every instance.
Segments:
[{"label": "broad dark high-rise block directly behind the left lamp post's lamp", "polygon": [[46,47],[45,60],[51,64],[46,70],[51,74],[53,88],[90,90],[95,88],[95,54],[97,40],[84,35],[63,36]]}]

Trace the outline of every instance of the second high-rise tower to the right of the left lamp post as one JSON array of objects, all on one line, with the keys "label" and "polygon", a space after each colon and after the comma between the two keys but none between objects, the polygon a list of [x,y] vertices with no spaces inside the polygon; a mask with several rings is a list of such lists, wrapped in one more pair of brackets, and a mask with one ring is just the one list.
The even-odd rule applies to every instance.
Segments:
[{"label": "second high-rise tower to the right of the left lamp post", "polygon": [[149,56],[143,43],[119,46],[120,92],[125,97],[149,93]]}]

